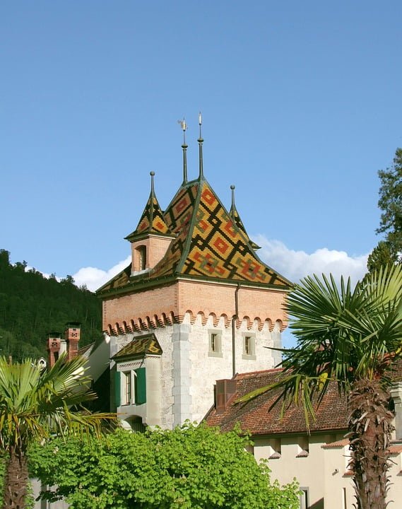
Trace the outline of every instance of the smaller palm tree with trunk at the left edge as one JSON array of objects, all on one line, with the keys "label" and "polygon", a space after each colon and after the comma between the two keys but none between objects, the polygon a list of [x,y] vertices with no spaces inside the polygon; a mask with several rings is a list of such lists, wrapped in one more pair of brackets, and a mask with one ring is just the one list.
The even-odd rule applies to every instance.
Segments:
[{"label": "smaller palm tree with trunk at the left edge", "polygon": [[[27,450],[52,433],[99,433],[111,414],[90,414],[79,406],[88,392],[85,359],[61,356],[50,370],[31,360],[9,364],[0,358],[0,451],[6,455],[4,509],[23,509],[28,484]],[[78,409],[77,409],[78,408]]]}]

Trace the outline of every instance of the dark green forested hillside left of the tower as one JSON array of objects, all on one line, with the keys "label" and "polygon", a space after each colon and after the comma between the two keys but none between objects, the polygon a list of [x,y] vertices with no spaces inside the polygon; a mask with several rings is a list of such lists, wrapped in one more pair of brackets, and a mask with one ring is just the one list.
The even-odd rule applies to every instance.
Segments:
[{"label": "dark green forested hillside left of the tower", "polygon": [[81,322],[80,346],[95,341],[102,334],[100,300],[71,276],[46,279],[0,250],[0,355],[46,358],[47,334],[63,333],[67,322]]}]

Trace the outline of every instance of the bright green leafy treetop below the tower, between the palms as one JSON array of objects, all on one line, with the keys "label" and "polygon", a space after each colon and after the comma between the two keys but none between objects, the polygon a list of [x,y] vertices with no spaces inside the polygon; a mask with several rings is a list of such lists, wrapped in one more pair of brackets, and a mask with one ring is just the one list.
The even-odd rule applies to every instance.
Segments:
[{"label": "bright green leafy treetop below the tower, between the palms", "polygon": [[32,475],[57,485],[71,509],[296,509],[298,488],[269,484],[247,438],[187,424],[173,431],[117,430],[100,440],[52,440],[30,450]]}]

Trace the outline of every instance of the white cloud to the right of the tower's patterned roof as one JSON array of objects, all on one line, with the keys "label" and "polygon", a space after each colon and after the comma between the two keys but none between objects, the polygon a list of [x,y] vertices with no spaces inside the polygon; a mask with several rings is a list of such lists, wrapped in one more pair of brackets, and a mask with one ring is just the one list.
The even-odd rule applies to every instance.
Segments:
[{"label": "white cloud to the right of the tower's patterned roof", "polygon": [[329,273],[338,281],[341,275],[350,276],[355,283],[367,271],[368,254],[350,256],[345,251],[329,250],[326,247],[307,253],[290,250],[280,240],[268,240],[264,235],[259,235],[255,240],[261,245],[259,257],[294,283],[307,275],[321,276]]}]

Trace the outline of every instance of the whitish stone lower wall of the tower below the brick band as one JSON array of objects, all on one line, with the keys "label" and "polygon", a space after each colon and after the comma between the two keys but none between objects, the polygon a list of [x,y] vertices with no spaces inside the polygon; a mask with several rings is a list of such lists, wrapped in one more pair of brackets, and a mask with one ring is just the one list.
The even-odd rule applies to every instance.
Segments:
[{"label": "whitish stone lower wall of the tower below the brick band", "polygon": [[[221,317],[214,324],[210,315],[203,320],[203,315],[192,317],[184,315],[182,323],[153,329],[162,347],[160,380],[147,375],[147,392],[160,392],[160,404],[153,403],[153,411],[149,408],[137,409],[137,415],[143,417],[148,425],[160,424],[162,428],[173,428],[187,419],[200,422],[214,402],[213,386],[216,380],[232,378],[232,327]],[[191,323],[193,321],[193,323]],[[211,352],[211,333],[220,337],[220,353]],[[252,337],[254,351],[252,355],[244,353],[244,336]],[[111,356],[128,344],[141,332],[120,334],[111,338]],[[280,331],[278,325],[269,330],[266,322],[261,330],[259,322],[249,324],[243,320],[239,328],[235,328],[235,369],[237,373],[273,368],[280,360],[278,353],[266,347],[280,347]],[[156,387],[158,386],[158,387]],[[144,406],[144,405],[142,405]],[[148,402],[147,402],[148,406]],[[159,410],[158,410],[159,409]],[[141,410],[141,411],[140,411]],[[129,409],[135,413],[136,409]],[[153,412],[160,411],[159,416]]]}]

